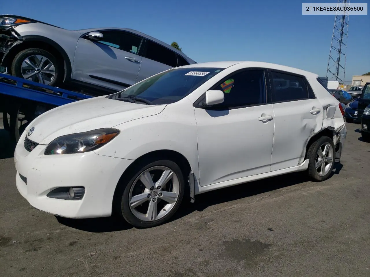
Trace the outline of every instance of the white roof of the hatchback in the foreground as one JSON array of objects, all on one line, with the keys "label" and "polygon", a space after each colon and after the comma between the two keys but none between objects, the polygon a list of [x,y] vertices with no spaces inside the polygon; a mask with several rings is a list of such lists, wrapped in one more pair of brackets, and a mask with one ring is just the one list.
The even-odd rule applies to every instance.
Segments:
[{"label": "white roof of the hatchback in the foreground", "polygon": [[190,65],[184,65],[181,66],[182,68],[196,68],[196,67],[216,67],[216,68],[228,68],[230,66],[236,65],[236,64],[242,64],[245,67],[262,67],[262,68],[270,68],[270,69],[277,69],[282,71],[288,71],[288,72],[294,72],[300,75],[305,76],[312,76],[314,78],[317,78],[316,73],[312,73],[309,71],[305,71],[302,69],[285,66],[285,65],[279,65],[279,64],[271,64],[268,62],[255,62],[255,61],[219,61],[219,62],[203,62],[199,64],[190,64]]}]

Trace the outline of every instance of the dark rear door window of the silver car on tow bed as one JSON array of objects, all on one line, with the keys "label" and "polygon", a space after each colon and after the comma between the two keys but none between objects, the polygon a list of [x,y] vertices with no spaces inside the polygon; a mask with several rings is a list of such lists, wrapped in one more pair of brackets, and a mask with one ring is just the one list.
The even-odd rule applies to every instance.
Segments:
[{"label": "dark rear door window of the silver car on tow bed", "polygon": [[144,57],[172,67],[176,67],[177,65],[175,52],[150,40],[147,40]]}]

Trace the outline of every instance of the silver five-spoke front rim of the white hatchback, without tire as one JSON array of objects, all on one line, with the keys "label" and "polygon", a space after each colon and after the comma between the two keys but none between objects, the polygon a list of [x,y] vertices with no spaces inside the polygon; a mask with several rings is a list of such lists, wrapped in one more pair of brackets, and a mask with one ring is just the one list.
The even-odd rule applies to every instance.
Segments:
[{"label": "silver five-spoke front rim of the white hatchback, without tire", "polygon": [[140,220],[159,220],[174,208],[179,191],[179,178],[170,168],[148,168],[138,175],[130,188],[129,208]]}]

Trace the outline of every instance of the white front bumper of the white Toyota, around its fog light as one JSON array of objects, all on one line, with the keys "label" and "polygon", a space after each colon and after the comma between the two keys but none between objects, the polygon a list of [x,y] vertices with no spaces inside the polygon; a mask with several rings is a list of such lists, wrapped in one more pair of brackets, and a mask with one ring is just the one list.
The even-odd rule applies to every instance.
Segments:
[{"label": "white front bumper of the white Toyota, around its fog light", "polygon": [[[94,152],[44,155],[45,145],[38,145],[28,152],[23,145],[24,135],[19,141],[14,152],[16,185],[20,194],[34,208],[66,218],[111,215],[115,188],[132,160]],[[81,200],[46,196],[58,187],[81,186],[85,188]]]}]

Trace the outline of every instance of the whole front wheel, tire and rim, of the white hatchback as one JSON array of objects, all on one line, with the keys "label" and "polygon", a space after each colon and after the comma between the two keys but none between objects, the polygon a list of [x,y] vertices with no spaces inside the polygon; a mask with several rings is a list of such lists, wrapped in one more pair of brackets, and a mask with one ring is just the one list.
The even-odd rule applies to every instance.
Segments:
[{"label": "whole front wheel, tire and rim, of the white hatchback", "polygon": [[166,222],[179,208],[185,180],[173,161],[159,160],[135,170],[121,192],[120,214],[138,228]]}]

